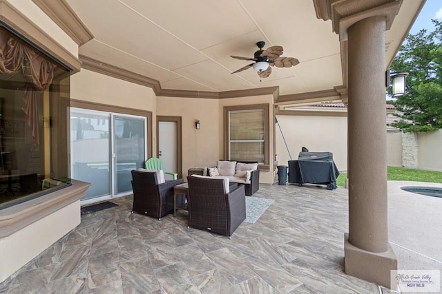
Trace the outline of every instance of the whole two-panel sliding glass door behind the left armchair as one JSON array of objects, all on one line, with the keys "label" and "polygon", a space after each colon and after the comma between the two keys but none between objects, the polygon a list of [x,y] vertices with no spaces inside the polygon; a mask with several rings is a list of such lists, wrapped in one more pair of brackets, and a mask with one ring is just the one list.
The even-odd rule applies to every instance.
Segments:
[{"label": "whole two-panel sliding glass door behind the left armchair", "polygon": [[131,170],[146,158],[146,118],[71,108],[71,178],[90,182],[86,196],[132,192]]}]

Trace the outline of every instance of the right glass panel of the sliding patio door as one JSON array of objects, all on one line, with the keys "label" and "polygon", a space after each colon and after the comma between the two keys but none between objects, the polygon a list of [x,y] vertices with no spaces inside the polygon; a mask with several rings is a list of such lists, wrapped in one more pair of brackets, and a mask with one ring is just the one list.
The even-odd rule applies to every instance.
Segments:
[{"label": "right glass panel of the sliding patio door", "polygon": [[131,170],[144,167],[146,120],[135,116],[113,116],[114,193],[132,191]]}]

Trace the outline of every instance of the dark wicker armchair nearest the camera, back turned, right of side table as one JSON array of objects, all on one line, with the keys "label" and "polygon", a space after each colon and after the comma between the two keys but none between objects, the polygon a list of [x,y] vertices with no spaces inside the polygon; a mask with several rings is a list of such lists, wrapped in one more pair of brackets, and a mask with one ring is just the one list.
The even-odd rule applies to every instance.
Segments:
[{"label": "dark wicker armchair nearest the camera, back turned, right of side table", "polygon": [[244,185],[224,193],[222,179],[187,177],[189,227],[231,236],[246,218]]}]

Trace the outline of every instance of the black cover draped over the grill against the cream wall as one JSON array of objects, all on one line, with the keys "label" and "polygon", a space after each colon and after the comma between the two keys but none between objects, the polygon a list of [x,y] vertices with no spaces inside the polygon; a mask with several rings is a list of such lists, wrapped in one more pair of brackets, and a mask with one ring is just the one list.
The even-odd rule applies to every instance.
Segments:
[{"label": "black cover draped over the grill against the cream wall", "polygon": [[300,152],[298,160],[289,160],[291,183],[327,185],[327,189],[331,190],[336,189],[338,176],[332,152]]}]

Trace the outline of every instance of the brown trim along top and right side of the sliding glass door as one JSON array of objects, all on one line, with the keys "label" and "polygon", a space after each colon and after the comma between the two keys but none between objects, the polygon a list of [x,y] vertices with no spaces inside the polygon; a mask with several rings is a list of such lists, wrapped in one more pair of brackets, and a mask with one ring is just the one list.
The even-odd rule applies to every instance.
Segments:
[{"label": "brown trim along top and right side of the sliding glass door", "polygon": [[106,105],[101,103],[93,103],[89,101],[80,101],[71,99],[70,100],[70,107],[77,107],[77,108],[83,108],[83,109],[92,109],[92,110],[98,110],[101,112],[113,112],[118,114],[131,114],[135,116],[144,116],[147,120],[147,158],[152,157],[152,112],[149,112],[147,110],[140,110],[140,109],[133,109],[128,107],[119,107],[119,106],[113,106],[113,105]]}]

